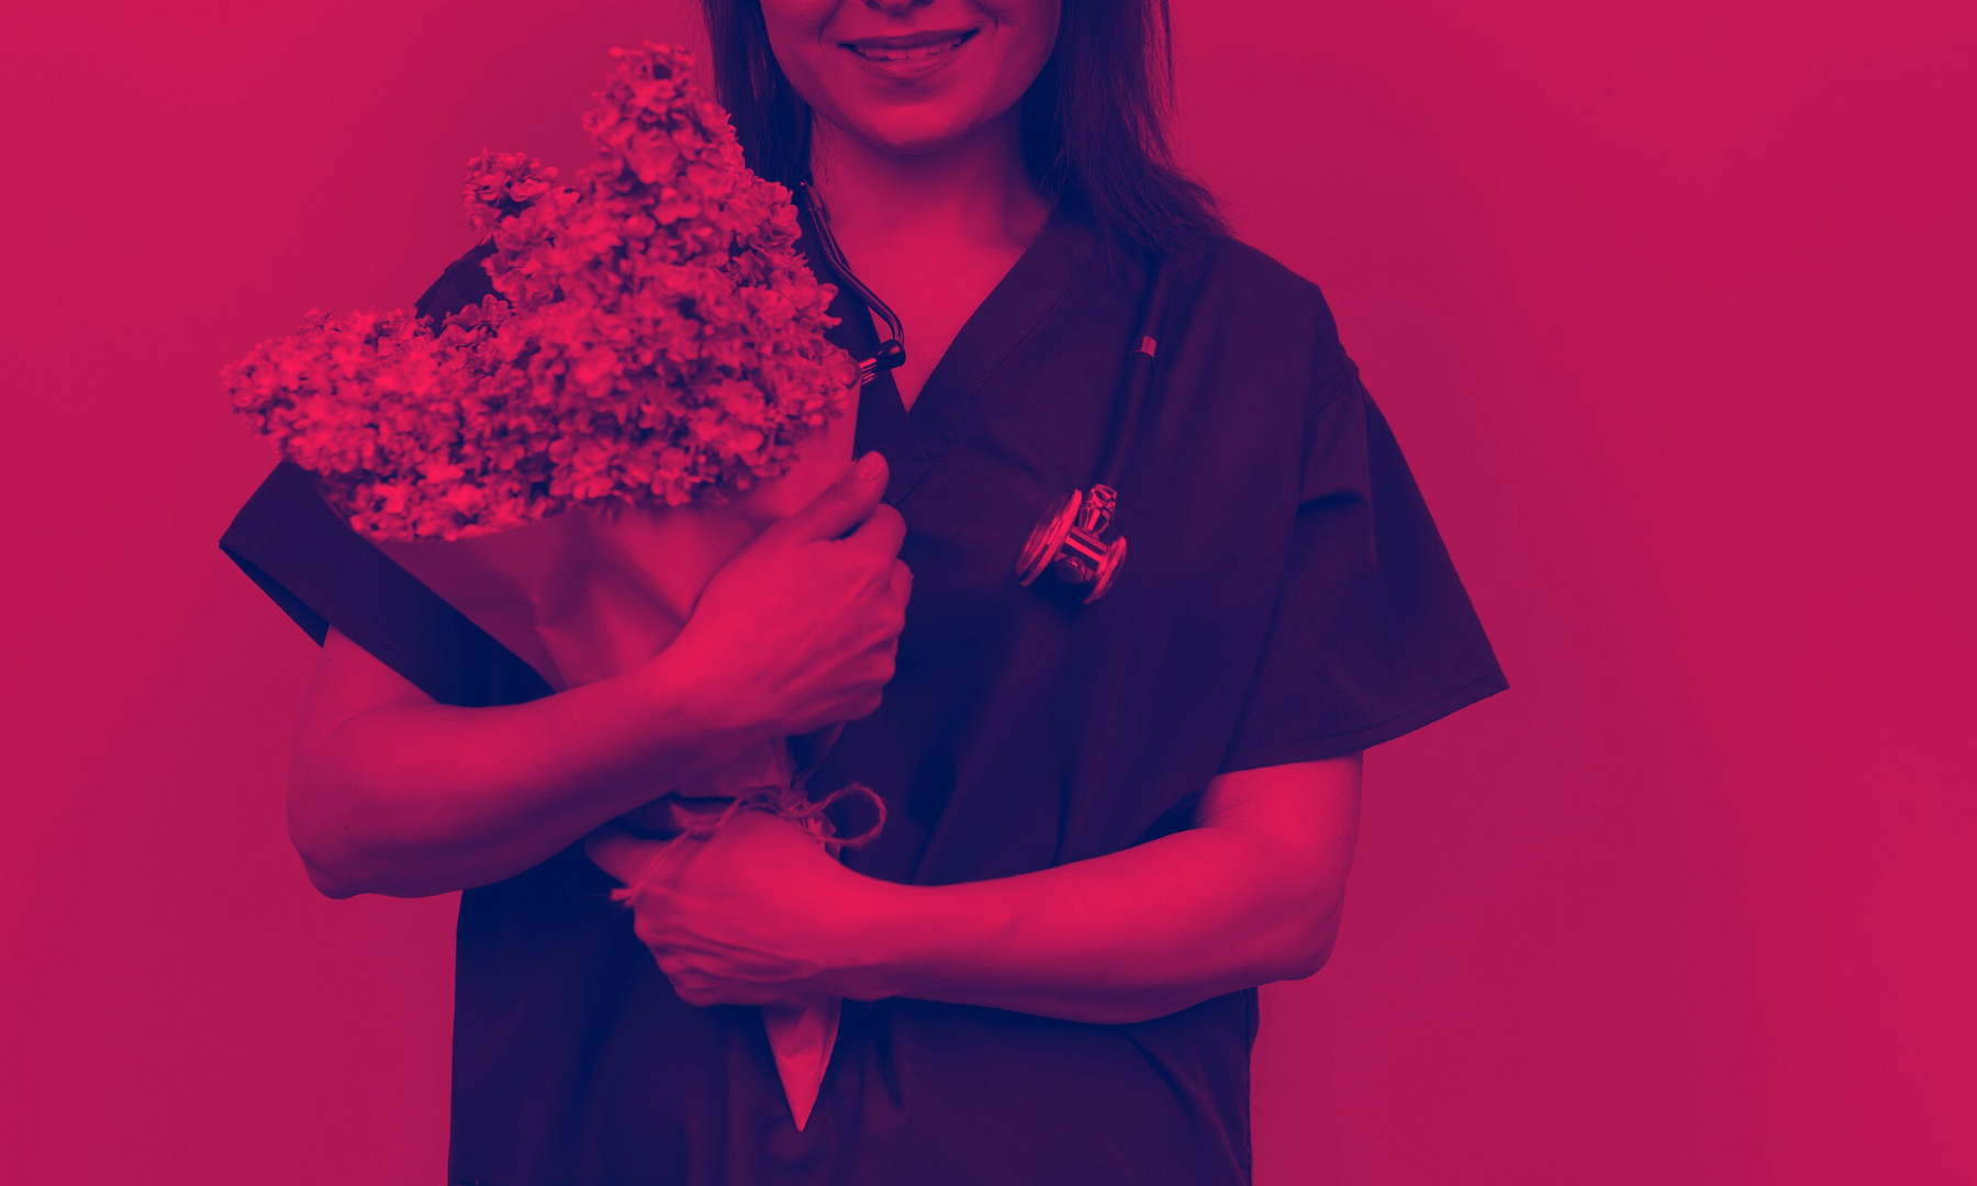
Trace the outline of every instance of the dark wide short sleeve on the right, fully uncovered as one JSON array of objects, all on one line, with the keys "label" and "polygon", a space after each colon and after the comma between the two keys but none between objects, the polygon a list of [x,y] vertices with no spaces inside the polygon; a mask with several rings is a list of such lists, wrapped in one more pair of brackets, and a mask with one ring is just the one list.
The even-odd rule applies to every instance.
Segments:
[{"label": "dark wide short sleeve on the right, fully uncovered", "polygon": [[1289,561],[1222,773],[1340,757],[1508,688],[1386,417],[1334,352]]}]

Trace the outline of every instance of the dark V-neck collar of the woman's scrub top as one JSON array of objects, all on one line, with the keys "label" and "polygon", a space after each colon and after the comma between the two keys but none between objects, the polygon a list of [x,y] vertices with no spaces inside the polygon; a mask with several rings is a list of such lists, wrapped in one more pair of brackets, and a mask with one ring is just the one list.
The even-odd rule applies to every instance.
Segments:
[{"label": "dark V-neck collar of the woman's scrub top", "polygon": [[[824,336],[854,358],[870,358],[878,350],[878,334],[866,302],[817,249],[809,213],[801,213],[799,223],[803,237],[797,247],[817,277],[838,289],[830,302],[830,316],[838,324]],[[1058,308],[1095,249],[1097,233],[1074,217],[1066,202],[1058,202],[1044,229],[961,324],[911,409],[900,397],[892,372],[880,372],[860,389],[854,451],[864,455],[876,449],[886,455],[892,470],[886,502],[898,506],[905,500],[947,453],[996,370]],[[905,344],[907,350],[913,348],[911,326]]]}]

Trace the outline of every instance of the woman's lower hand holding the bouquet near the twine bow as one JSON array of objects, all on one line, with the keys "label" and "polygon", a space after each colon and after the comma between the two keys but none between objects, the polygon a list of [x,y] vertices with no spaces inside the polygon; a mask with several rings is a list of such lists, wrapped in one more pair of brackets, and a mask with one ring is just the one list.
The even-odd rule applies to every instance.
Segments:
[{"label": "woman's lower hand holding the bouquet near the twine bow", "polygon": [[842,973],[870,953],[884,882],[846,870],[809,832],[761,810],[735,812],[706,840],[643,840],[617,826],[583,850],[625,886],[633,931],[680,1000],[779,1004],[846,996]]}]

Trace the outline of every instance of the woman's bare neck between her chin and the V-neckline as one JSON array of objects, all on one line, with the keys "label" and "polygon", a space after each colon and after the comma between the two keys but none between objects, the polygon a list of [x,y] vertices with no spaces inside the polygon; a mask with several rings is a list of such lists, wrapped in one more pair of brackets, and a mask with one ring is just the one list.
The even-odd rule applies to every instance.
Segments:
[{"label": "woman's bare neck between her chin and the V-neckline", "polygon": [[1022,162],[1016,109],[933,152],[882,152],[813,117],[811,178],[846,257],[898,247],[1022,249],[1050,217],[1050,200]]}]

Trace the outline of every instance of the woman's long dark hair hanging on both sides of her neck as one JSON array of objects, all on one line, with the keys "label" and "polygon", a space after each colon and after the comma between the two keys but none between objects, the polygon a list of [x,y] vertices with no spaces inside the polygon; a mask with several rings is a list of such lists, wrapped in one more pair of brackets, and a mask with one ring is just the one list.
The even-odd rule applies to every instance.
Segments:
[{"label": "woman's long dark hair hanging on both sides of her neck", "polygon": [[[789,188],[809,180],[811,105],[775,61],[761,0],[700,6],[749,168]],[[1228,227],[1174,164],[1172,95],[1168,0],[1064,0],[1058,43],[1022,97],[1022,152],[1038,188],[1083,206],[1107,245],[1196,261]]]}]

